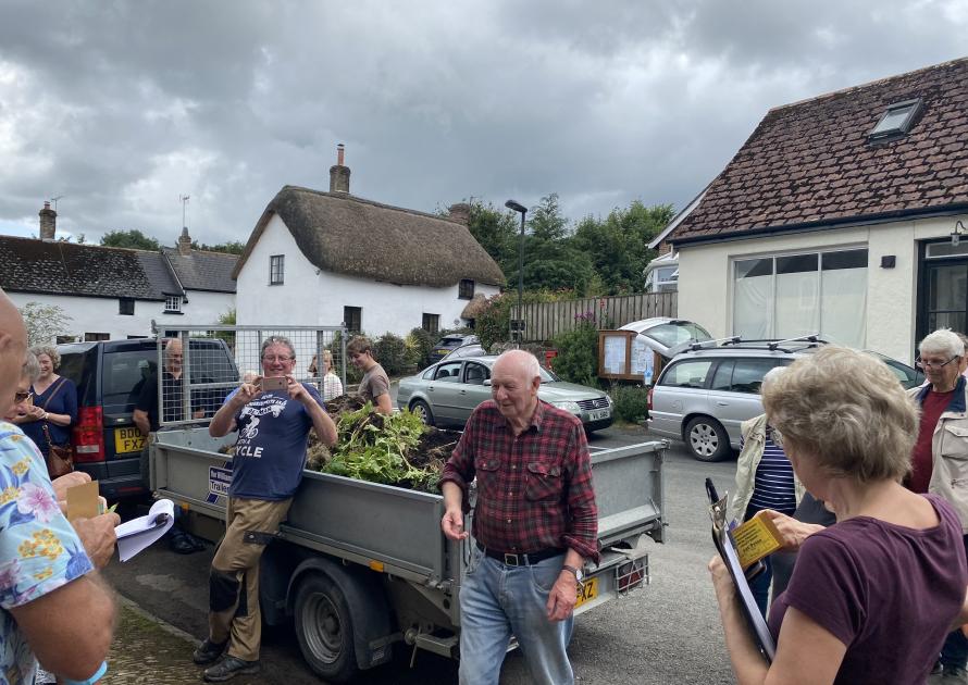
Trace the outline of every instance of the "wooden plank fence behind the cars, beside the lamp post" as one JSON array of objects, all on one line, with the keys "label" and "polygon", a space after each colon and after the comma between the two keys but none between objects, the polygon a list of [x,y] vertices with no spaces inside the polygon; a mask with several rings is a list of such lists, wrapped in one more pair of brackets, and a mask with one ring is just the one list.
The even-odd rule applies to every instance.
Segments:
[{"label": "wooden plank fence behind the cars, beside the lamp post", "polygon": [[[524,304],[524,341],[547,342],[559,333],[573,331],[582,320],[601,329],[653,316],[675,316],[678,302],[679,294],[673,290]],[[511,319],[519,319],[517,306],[511,307]]]}]

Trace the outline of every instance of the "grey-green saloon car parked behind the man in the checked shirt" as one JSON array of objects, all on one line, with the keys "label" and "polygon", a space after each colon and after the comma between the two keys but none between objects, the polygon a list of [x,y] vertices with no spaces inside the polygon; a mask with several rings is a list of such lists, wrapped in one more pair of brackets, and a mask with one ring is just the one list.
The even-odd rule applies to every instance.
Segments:
[{"label": "grey-green saloon car parked behind the man in the checked shirt", "polygon": [[[420,374],[402,378],[397,407],[420,414],[435,426],[463,427],[471,412],[491,399],[491,369],[497,357],[445,359]],[[564,383],[546,369],[541,370],[538,397],[582,420],[585,431],[607,428],[612,422],[611,398],[595,388]]]}]

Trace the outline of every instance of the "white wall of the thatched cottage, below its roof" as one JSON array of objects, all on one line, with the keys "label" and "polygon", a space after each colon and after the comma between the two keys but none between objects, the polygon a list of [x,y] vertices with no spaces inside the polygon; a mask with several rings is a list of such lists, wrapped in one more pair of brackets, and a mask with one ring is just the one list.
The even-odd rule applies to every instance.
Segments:
[{"label": "white wall of the thatched cottage, below its roof", "polygon": [[[274,254],[285,256],[285,282],[271,286],[269,258]],[[454,327],[468,303],[457,297],[457,284],[400,286],[320,271],[296,246],[278,215],[266,224],[236,287],[239,325],[338,326],[344,307],[360,307],[362,328],[373,336],[386,332],[405,336],[421,326],[424,313],[439,314],[442,328]],[[489,297],[499,288],[477,283],[474,291]]]}]

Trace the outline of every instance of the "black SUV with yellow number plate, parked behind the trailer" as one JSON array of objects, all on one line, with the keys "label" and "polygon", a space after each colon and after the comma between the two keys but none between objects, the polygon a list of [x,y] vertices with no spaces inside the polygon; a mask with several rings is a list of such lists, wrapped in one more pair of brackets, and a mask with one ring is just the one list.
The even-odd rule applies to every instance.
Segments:
[{"label": "black SUV with yellow number plate, parked behind the trailer", "polygon": [[[58,352],[58,373],[77,385],[77,422],[72,431],[75,468],[98,481],[108,499],[147,493],[139,466],[145,438],[132,412],[145,382],[158,372],[157,340],[75,342],[59,345]],[[191,377],[238,382],[224,340],[190,339],[188,363]]]}]

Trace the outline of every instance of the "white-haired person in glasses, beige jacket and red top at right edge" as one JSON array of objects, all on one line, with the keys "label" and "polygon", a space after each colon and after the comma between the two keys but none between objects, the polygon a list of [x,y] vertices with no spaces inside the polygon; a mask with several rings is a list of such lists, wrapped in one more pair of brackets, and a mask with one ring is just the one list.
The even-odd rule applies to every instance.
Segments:
[{"label": "white-haired person in glasses, beige jacket and red top at right edge", "polygon": [[[961,372],[966,366],[965,342],[947,328],[929,334],[918,346],[918,361],[928,383],[908,395],[921,408],[918,439],[911,451],[911,471],[905,485],[914,493],[943,497],[968,531],[968,393]],[[968,550],[968,537],[963,537]],[[968,682],[968,638],[953,631],[941,650],[945,682]]]}]

